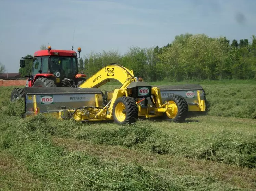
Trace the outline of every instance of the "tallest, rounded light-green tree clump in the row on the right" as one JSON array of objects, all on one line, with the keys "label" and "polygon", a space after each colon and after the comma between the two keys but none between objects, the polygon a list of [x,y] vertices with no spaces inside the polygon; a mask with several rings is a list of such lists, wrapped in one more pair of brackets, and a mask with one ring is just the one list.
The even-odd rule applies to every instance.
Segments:
[{"label": "tallest, rounded light-green tree clump in the row on the right", "polygon": [[228,58],[229,42],[224,38],[209,38],[205,34],[189,35],[174,40],[159,55],[159,68],[167,80],[223,78],[222,69]]}]

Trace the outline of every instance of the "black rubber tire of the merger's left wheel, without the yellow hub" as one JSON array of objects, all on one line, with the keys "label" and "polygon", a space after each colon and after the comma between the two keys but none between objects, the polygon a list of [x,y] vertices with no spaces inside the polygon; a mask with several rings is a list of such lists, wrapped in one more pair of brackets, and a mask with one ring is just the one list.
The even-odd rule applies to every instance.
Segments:
[{"label": "black rubber tire of the merger's left wheel, without the yellow hub", "polygon": [[[123,121],[116,115],[117,105],[122,103],[125,107],[125,118]],[[118,112],[118,111],[117,111]],[[132,124],[138,119],[138,106],[135,100],[131,97],[122,96],[115,100],[113,105],[113,119],[115,123],[118,124]]]}]

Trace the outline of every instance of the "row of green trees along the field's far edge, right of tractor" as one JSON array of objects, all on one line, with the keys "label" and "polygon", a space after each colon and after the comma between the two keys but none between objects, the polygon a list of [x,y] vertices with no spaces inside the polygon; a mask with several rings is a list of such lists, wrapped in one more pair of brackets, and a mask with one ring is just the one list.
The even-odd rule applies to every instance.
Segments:
[{"label": "row of green trees along the field's far edge, right of tractor", "polygon": [[[42,46],[41,46],[42,48]],[[29,55],[28,55],[29,56]],[[181,80],[256,79],[256,38],[233,40],[189,33],[175,36],[163,47],[130,47],[118,51],[90,53],[78,61],[88,77],[110,63],[133,70],[148,82]],[[22,75],[25,68],[20,69]]]}]

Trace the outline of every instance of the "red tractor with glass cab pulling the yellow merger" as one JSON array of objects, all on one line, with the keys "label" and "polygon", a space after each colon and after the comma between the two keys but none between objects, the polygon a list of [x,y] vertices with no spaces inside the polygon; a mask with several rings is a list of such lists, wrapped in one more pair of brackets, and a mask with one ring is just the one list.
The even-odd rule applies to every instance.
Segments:
[{"label": "red tractor with glass cab pulling the yellow merger", "polygon": [[[29,71],[26,87],[79,87],[86,79],[85,74],[78,74],[78,58],[81,48],[78,47],[79,57],[73,50],[39,50],[33,57],[22,57],[20,67],[25,67],[25,59],[33,60]],[[11,101],[23,97],[23,89],[12,91]]]}]

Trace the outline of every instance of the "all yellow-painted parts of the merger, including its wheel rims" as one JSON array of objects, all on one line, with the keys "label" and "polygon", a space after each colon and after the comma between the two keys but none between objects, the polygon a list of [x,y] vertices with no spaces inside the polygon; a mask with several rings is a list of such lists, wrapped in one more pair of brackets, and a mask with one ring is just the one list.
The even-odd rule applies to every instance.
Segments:
[{"label": "all yellow-painted parts of the merger, including its wheel rims", "polygon": [[[110,65],[102,68],[92,77],[87,79],[84,83],[80,85],[80,88],[98,88],[106,84],[110,79],[118,80],[122,86],[115,89],[113,92],[108,92],[108,104],[104,108],[87,108],[78,109],[74,114],[73,118],[78,121],[102,121],[102,120],[112,120],[113,112],[117,120],[122,122],[126,118],[125,105],[123,103],[118,103],[113,111],[113,105],[115,101],[122,96],[129,96],[131,94],[131,89],[127,89],[127,86],[131,82],[135,82],[136,78],[132,70],[128,70],[125,67],[119,65]],[[56,78],[56,82],[59,82],[60,78]],[[174,118],[178,114],[178,107],[174,101],[168,101],[163,103],[160,88],[152,87],[151,95],[153,99],[153,105],[147,105],[147,107],[142,107],[139,103],[138,106],[138,116],[139,117],[157,117],[162,116],[164,113],[167,114],[169,118]],[[191,111],[205,111],[204,100],[200,100],[200,90],[197,91],[198,95],[198,106],[188,105]],[[34,95],[34,108],[37,107]],[[148,98],[150,99],[150,98]],[[137,101],[139,101],[137,99]],[[98,95],[95,94],[95,106],[99,107]],[[61,116],[66,116],[67,113],[73,113],[74,110],[62,110],[59,112],[49,113],[57,118],[62,118]],[[68,116],[68,115],[67,115]]]}]

